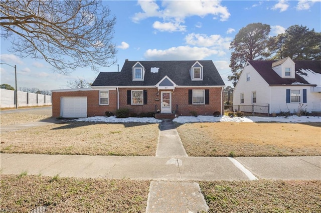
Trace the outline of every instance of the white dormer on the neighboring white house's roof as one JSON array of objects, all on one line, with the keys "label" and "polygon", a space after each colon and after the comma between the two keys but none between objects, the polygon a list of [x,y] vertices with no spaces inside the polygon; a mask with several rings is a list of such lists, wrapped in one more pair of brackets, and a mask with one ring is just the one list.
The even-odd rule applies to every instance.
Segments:
[{"label": "white dormer on the neighboring white house's roof", "polygon": [[273,62],[272,69],[283,78],[295,78],[295,63],[290,57]]}]

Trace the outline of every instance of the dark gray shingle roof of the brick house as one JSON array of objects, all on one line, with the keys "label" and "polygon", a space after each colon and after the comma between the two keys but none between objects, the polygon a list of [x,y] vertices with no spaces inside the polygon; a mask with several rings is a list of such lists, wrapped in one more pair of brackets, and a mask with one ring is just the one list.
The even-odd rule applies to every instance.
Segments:
[{"label": "dark gray shingle roof of the brick house", "polygon": [[[166,75],[177,85],[225,85],[212,60],[198,60],[199,63],[203,65],[203,80],[192,81],[189,70],[196,61],[197,60],[139,61],[145,68],[144,80],[133,81],[132,66],[137,60],[126,60],[120,72],[100,72],[92,86],[150,86],[156,85]],[[158,72],[150,72],[151,67],[159,67]]]}]

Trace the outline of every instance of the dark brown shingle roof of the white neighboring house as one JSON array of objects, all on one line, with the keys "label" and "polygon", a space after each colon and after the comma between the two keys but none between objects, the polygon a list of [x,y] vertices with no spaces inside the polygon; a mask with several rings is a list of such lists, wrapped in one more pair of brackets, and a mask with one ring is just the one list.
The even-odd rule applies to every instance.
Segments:
[{"label": "dark brown shingle roof of the white neighboring house", "polygon": [[270,85],[293,83],[310,84],[303,77],[297,74],[298,72],[302,72],[302,69],[310,69],[315,73],[321,74],[321,60],[293,60],[295,63],[295,78],[282,78],[278,75],[272,69],[272,63],[276,62],[276,60],[249,60],[248,62]]}]

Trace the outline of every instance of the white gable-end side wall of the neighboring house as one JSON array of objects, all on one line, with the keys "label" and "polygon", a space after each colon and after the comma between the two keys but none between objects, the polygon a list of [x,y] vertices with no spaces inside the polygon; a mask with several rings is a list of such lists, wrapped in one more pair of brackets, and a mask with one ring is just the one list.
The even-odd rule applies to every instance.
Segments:
[{"label": "white gable-end side wall of the neighboring house", "polygon": [[[250,80],[246,76],[250,74]],[[269,85],[252,67],[245,66],[233,91],[233,105],[252,105],[252,92],[256,91],[254,105],[267,105],[269,102]],[[241,103],[241,93],[244,93],[244,103]]]}]

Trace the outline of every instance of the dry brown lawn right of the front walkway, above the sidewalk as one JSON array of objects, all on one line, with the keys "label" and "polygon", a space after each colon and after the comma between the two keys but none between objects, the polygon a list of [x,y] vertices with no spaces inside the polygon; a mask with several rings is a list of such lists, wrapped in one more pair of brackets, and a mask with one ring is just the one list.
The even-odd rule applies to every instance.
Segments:
[{"label": "dry brown lawn right of the front walkway, above the sidewalk", "polygon": [[189,156],[321,155],[321,128],[307,124],[185,123],[177,130]]}]

